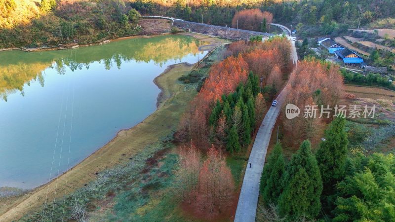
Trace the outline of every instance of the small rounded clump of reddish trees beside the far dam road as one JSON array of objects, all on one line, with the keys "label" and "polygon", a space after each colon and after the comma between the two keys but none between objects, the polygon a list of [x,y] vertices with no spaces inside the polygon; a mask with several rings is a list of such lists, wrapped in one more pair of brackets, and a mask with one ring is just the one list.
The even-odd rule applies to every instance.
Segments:
[{"label": "small rounded clump of reddish trees beside the far dam road", "polygon": [[[264,20],[265,19],[265,20]],[[238,20],[238,25],[237,25]],[[262,12],[258,8],[246,9],[236,12],[232,20],[232,27],[251,31],[261,31],[261,23],[266,21],[270,24],[273,21],[273,14],[267,11]]]}]

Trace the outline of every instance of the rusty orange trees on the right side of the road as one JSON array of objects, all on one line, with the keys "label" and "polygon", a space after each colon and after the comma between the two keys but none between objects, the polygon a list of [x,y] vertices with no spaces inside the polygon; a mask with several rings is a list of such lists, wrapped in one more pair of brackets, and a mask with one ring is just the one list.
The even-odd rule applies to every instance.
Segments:
[{"label": "rusty orange trees on the right side of the road", "polygon": [[[284,118],[285,130],[295,144],[306,138],[312,143],[317,142],[315,140],[320,137],[316,135],[320,134],[324,124],[322,120],[327,118],[326,114],[318,118],[321,106],[333,108],[341,98],[343,77],[339,74],[339,67],[316,59],[303,60],[291,74],[289,84],[285,104],[296,105],[301,109],[301,114],[294,119]],[[318,106],[316,118],[304,118],[306,105]],[[333,110],[330,116],[333,116]]]}]

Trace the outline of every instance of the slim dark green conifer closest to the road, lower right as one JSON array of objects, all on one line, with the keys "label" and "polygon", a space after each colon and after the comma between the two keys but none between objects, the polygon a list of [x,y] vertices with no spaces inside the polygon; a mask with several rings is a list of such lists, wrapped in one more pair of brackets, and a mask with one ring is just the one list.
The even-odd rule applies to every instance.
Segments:
[{"label": "slim dark green conifer closest to the road, lower right", "polygon": [[261,193],[266,204],[277,204],[282,192],[281,178],[285,172],[285,160],[280,143],[276,143],[262,172]]}]

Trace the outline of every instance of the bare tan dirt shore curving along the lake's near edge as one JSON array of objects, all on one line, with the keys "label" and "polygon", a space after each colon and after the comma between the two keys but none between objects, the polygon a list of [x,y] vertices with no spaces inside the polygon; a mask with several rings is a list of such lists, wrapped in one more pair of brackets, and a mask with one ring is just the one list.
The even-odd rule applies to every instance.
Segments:
[{"label": "bare tan dirt shore curving along the lake's near edge", "polygon": [[[223,43],[223,40],[218,38],[198,34],[186,35],[193,35],[201,41],[208,41],[211,46],[205,45],[204,50],[211,51]],[[184,85],[178,81],[180,76],[190,72],[194,67],[195,65],[184,63],[176,64],[160,74],[155,79],[155,83],[162,90],[162,95],[158,98],[160,106],[157,111],[136,126],[119,131],[117,136],[104,147],[59,176],[57,183],[54,179],[49,184],[41,185],[23,195],[1,198],[0,221],[15,221],[28,213],[37,211],[46,199],[53,201],[55,190],[56,197],[72,193],[94,180],[97,172],[123,164],[142,148],[169,135],[175,130],[181,114],[197,93],[193,89],[184,90]]]}]

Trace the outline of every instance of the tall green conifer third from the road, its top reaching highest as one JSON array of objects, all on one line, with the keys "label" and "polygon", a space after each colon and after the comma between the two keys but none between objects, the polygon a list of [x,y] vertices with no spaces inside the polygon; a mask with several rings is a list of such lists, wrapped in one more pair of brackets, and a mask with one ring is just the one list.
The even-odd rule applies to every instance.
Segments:
[{"label": "tall green conifer third from the road, its top reaching highest", "polygon": [[[338,117],[332,121],[330,128],[325,133],[325,140],[321,142],[316,159],[321,172],[323,191],[322,203],[330,209],[335,197],[335,186],[344,178],[347,159],[347,133],[344,130],[346,119]],[[328,211],[329,213],[329,211]]]}]

